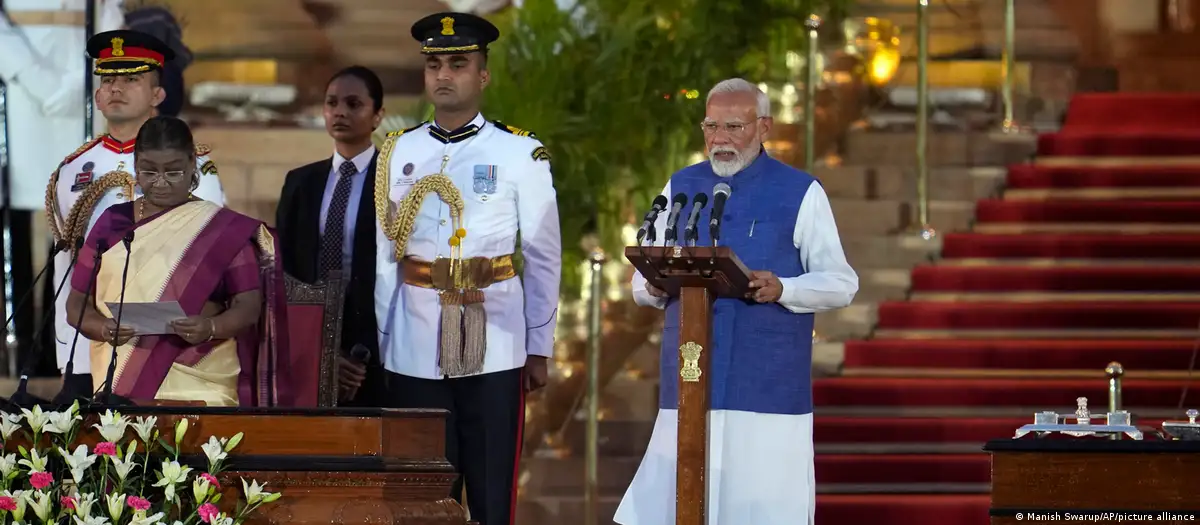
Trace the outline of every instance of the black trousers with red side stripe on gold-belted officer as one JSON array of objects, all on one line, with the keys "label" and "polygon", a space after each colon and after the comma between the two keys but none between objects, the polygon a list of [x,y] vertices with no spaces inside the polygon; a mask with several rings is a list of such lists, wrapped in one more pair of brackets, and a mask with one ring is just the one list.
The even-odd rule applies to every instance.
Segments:
[{"label": "black trousers with red side stripe on gold-belted officer", "polygon": [[418,379],[388,372],[388,403],[396,409],[444,409],[446,459],[461,476],[451,490],[470,519],[511,525],[524,432],[524,369],[454,379]]}]

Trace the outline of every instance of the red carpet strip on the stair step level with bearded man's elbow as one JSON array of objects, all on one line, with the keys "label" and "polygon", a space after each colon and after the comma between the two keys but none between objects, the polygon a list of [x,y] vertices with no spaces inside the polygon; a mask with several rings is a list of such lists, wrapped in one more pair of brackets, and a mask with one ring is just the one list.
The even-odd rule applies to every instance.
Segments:
[{"label": "red carpet strip on the stair step level with bearded man's elbow", "polygon": [[940,266],[912,271],[912,291],[1200,291],[1200,266]]}]

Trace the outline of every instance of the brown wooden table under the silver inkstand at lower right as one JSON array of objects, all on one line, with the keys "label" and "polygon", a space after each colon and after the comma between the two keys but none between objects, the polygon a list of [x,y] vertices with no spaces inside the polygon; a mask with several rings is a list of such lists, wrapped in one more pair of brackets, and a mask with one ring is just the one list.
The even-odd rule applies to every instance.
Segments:
[{"label": "brown wooden table under the silver inkstand at lower right", "polygon": [[984,451],[992,525],[1200,521],[1198,441],[1019,439]]}]

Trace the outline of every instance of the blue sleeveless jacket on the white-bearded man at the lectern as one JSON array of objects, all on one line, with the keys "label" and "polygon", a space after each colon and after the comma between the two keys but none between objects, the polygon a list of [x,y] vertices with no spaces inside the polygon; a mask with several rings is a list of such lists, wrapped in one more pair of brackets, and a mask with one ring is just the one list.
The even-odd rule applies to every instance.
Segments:
[{"label": "blue sleeveless jacket on the white-bearded man at the lectern", "polygon": [[[671,193],[684,192],[689,199],[701,192],[712,195],[718,182],[732,188],[719,245],[733,248],[751,271],[803,274],[800,252],[793,242],[796,217],[816,177],[760,153],[732,177],[718,176],[708,162],[684,168],[671,176]],[[701,216],[707,217],[707,210]],[[700,223],[696,246],[712,246],[707,221]],[[710,355],[704,374],[712,388],[712,410],[812,412],[812,314],[796,314],[779,303],[718,298],[712,348],[704,349]],[[661,409],[679,406],[679,302],[671,300],[662,330]]]}]

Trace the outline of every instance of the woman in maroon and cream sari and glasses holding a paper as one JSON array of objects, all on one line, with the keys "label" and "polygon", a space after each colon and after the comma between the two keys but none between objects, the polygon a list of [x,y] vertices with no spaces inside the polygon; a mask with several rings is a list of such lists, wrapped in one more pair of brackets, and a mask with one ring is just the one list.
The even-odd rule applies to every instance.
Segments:
[{"label": "woman in maroon and cream sari and glasses holding a paper", "polygon": [[[92,340],[92,385],[103,388],[116,345],[115,396],[290,405],[275,240],[262,222],[191,194],[203,176],[194,151],[184,121],[146,121],[134,145],[143,197],[106,210],[79,253],[67,312]],[[126,254],[125,303],[178,301],[187,316],[172,321],[170,333],[134,336],[133,327],[113,319],[108,303],[121,300]]]}]

